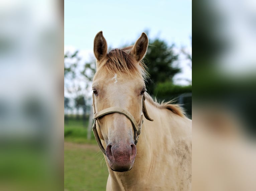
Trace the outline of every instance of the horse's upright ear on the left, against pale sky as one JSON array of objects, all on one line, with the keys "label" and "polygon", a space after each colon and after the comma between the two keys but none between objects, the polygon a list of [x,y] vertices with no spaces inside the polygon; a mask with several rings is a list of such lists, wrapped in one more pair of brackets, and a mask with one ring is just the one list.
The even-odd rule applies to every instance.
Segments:
[{"label": "horse's upright ear on the left, against pale sky", "polygon": [[94,38],[94,55],[97,61],[101,61],[107,55],[108,45],[102,31],[98,32]]}]

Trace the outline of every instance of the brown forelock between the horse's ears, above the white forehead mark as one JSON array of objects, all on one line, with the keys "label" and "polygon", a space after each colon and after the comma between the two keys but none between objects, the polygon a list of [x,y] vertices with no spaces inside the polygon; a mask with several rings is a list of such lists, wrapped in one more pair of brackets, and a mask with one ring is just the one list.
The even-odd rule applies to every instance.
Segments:
[{"label": "brown forelock between the horse's ears, above the white forehead mark", "polygon": [[128,74],[130,76],[142,76],[144,80],[148,78],[147,67],[143,61],[136,62],[134,57],[130,55],[133,46],[122,49],[112,49],[107,56],[101,61],[100,68],[106,67],[111,74]]}]

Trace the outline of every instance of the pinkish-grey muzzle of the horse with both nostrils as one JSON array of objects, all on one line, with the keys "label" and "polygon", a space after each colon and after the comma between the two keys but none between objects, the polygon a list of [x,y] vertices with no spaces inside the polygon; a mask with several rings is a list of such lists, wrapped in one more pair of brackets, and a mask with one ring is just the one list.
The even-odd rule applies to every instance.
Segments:
[{"label": "pinkish-grey muzzle of the horse with both nostrils", "polygon": [[137,153],[134,143],[109,143],[106,147],[106,156],[113,171],[124,172],[131,170]]}]

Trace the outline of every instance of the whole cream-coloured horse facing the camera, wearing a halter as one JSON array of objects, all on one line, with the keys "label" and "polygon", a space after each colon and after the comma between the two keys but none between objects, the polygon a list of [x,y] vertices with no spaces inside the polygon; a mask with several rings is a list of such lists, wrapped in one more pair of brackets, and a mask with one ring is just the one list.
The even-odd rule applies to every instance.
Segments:
[{"label": "whole cream-coloured horse facing the camera, wearing a halter", "polygon": [[93,131],[109,170],[107,190],[187,191],[191,120],[145,93],[147,47],[145,33],[134,46],[109,53],[102,31],[94,39]]}]

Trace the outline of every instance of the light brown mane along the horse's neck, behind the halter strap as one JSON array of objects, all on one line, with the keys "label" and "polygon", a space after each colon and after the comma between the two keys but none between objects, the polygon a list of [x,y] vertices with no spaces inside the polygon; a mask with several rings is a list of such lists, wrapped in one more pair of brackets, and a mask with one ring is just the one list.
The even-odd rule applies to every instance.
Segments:
[{"label": "light brown mane along the horse's neck, behind the halter strap", "polygon": [[178,104],[171,104],[172,100],[167,102],[162,101],[161,103],[158,103],[156,98],[155,100],[153,100],[153,98],[148,93],[145,93],[145,96],[146,96],[146,99],[155,107],[159,109],[168,109],[173,113],[179,115],[180,117],[185,117],[185,112],[182,109],[182,107],[180,107],[180,105]]}]

